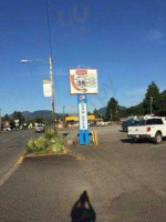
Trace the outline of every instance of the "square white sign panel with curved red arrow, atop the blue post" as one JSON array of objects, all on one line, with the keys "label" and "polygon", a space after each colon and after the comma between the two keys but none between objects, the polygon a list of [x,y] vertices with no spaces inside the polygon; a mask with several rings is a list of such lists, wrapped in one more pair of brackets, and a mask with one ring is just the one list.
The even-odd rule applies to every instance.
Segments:
[{"label": "square white sign panel with curved red arrow, atop the blue post", "polygon": [[71,94],[97,94],[96,69],[71,69],[70,70]]}]

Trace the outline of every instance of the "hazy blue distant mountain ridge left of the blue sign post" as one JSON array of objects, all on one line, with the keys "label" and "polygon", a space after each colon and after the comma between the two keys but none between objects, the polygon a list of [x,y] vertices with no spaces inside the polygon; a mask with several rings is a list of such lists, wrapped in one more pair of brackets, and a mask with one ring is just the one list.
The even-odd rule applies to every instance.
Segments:
[{"label": "hazy blue distant mountain ridge left of the blue sign post", "polygon": [[[29,111],[22,112],[22,115],[27,120],[34,120],[35,118],[43,118],[44,120],[49,120],[51,119],[51,114],[52,114],[52,111],[50,110],[37,110],[34,112],[29,112]],[[58,118],[62,118],[62,117],[63,117],[62,113],[58,113]]]}]

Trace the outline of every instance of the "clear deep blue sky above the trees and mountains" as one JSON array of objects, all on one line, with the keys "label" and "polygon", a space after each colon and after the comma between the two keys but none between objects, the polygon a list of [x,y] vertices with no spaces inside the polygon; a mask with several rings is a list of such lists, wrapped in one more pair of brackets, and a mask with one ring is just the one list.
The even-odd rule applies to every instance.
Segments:
[{"label": "clear deep blue sky above the trees and mountains", "polygon": [[[165,0],[49,0],[55,110],[76,112],[69,69],[96,68],[98,94],[89,110],[114,97],[124,107],[141,102],[155,81],[166,90]],[[46,63],[21,59],[50,56],[45,0],[0,0],[0,108],[2,114],[51,110],[43,97]]]}]

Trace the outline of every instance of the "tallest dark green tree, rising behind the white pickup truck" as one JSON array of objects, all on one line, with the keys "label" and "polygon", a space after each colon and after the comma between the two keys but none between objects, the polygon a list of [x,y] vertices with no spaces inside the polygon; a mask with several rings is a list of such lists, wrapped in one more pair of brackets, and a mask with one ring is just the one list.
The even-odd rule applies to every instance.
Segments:
[{"label": "tallest dark green tree, rising behind the white pickup truck", "polygon": [[145,99],[143,101],[143,109],[144,114],[151,113],[151,103],[152,103],[152,112],[158,112],[159,111],[159,101],[160,101],[160,94],[159,89],[156,85],[156,83],[153,81],[148,88],[147,92],[145,94]]}]

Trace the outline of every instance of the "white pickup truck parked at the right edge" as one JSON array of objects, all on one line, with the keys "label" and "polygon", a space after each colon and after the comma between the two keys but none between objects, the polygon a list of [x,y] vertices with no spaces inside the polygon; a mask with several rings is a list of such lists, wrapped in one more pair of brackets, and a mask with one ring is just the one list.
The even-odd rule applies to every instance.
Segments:
[{"label": "white pickup truck parked at the right edge", "polygon": [[166,118],[153,117],[136,127],[128,127],[128,138],[133,141],[148,139],[159,144],[166,137]]}]

